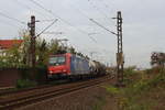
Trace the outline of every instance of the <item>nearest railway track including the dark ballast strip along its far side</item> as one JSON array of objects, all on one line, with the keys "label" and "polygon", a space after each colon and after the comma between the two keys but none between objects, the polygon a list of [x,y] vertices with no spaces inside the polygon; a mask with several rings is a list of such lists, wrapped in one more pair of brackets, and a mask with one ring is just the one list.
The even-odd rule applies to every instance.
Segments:
[{"label": "nearest railway track including the dark ballast strip along its far side", "polygon": [[28,106],[34,102],[38,102],[45,99],[55,98],[57,96],[63,96],[68,92],[80,90],[82,88],[88,88],[91,86],[99,85],[109,79],[111,79],[110,76],[105,76],[101,78],[90,79],[90,80],[76,82],[76,84],[55,86],[46,89],[40,88],[38,90],[35,89],[33,92],[24,91],[24,94],[20,94],[20,95],[15,94],[15,96],[8,95],[4,98],[0,99],[0,110],[11,110],[11,109],[20,108],[22,106]]}]

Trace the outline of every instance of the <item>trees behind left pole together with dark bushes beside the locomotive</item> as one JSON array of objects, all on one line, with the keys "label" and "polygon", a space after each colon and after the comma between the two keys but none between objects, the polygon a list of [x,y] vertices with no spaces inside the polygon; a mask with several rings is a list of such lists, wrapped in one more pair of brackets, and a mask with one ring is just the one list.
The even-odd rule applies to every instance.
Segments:
[{"label": "trees behind left pole together with dark bushes beside the locomotive", "polygon": [[[28,31],[20,33],[19,37],[23,40],[20,45],[13,45],[11,48],[3,51],[4,55],[0,55],[0,70],[14,68],[20,74],[20,79],[16,82],[16,87],[23,88],[33,86],[33,84],[43,84],[46,80],[46,65],[48,63],[50,55],[64,54],[66,52],[77,54],[88,58],[88,56],[76,52],[74,47],[67,47],[62,44],[59,40],[52,40],[50,43],[44,38],[36,38],[36,67],[32,68],[30,63],[31,54],[31,36]],[[3,70],[4,72],[4,70]],[[12,72],[11,72],[12,74]],[[8,76],[7,76],[8,77]],[[9,76],[10,78],[10,76]]]}]

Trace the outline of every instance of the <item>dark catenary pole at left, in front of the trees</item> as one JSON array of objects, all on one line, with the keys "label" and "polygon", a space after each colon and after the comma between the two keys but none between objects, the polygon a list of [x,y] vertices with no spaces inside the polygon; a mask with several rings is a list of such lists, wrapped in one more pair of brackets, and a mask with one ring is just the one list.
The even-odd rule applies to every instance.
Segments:
[{"label": "dark catenary pole at left, in front of the trees", "polygon": [[31,22],[28,23],[30,28],[31,44],[30,44],[30,66],[35,67],[35,16],[31,16]]}]

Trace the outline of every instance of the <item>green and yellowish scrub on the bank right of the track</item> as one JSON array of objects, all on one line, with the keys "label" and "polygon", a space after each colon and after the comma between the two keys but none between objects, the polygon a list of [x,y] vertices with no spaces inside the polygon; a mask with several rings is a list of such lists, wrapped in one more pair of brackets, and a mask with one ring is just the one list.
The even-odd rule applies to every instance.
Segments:
[{"label": "green and yellowish scrub on the bank right of the track", "polygon": [[134,72],[129,68],[124,74],[128,74],[124,76],[125,88],[105,87],[112,98],[118,99],[119,110],[165,109],[165,69],[152,68]]}]

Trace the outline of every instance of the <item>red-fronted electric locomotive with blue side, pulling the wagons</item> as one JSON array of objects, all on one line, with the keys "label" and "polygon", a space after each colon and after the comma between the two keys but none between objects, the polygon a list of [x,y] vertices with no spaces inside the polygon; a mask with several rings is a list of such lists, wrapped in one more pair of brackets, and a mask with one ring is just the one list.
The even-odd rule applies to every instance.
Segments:
[{"label": "red-fronted electric locomotive with blue side, pulling the wagons", "polygon": [[64,78],[85,74],[90,74],[89,62],[85,57],[70,53],[50,56],[48,78]]}]

